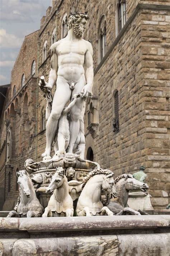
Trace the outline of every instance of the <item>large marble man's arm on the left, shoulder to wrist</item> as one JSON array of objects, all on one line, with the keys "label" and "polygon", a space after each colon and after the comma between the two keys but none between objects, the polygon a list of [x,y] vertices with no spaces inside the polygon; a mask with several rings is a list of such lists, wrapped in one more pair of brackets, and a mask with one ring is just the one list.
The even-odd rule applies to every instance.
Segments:
[{"label": "large marble man's arm on the left, shoulder to wrist", "polygon": [[50,89],[52,89],[52,87],[57,79],[58,59],[57,59],[57,54],[56,54],[56,46],[57,46],[57,42],[55,44],[53,44],[50,48],[51,70],[49,72],[49,79],[48,79],[48,85],[49,85]]}]

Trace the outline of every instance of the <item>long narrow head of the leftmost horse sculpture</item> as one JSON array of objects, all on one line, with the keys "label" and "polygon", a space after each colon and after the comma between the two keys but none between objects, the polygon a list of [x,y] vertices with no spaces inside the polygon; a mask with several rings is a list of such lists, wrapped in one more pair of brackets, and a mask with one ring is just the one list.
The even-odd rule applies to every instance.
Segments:
[{"label": "long narrow head of the leftmost horse sculpture", "polygon": [[24,195],[26,197],[30,197],[30,188],[29,188],[29,179],[27,172],[25,170],[21,170],[16,172],[16,176],[18,177],[18,184],[20,186],[20,189],[23,191]]}]

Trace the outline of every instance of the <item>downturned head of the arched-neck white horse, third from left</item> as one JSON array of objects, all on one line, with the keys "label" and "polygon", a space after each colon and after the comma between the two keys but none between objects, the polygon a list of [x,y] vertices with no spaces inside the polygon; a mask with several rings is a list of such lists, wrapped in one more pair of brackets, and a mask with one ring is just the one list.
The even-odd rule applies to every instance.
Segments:
[{"label": "downturned head of the arched-neck white horse, third from left", "polygon": [[114,173],[108,174],[107,176],[105,176],[104,180],[101,184],[101,187],[108,194],[109,198],[112,198],[112,197],[116,198],[117,197],[117,192],[116,192],[116,187],[115,187],[115,184],[114,184],[113,175],[114,175]]}]

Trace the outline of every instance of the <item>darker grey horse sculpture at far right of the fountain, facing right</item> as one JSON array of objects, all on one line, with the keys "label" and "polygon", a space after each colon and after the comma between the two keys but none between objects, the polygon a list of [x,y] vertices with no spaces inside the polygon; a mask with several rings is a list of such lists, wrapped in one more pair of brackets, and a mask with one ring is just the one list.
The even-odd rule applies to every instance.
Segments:
[{"label": "darker grey horse sculpture at far right of the fountain, facing right", "polygon": [[129,190],[140,189],[146,192],[148,185],[133,178],[131,174],[122,174],[114,180],[118,196],[114,201],[112,199],[106,204],[110,211],[116,215],[140,215],[140,212],[128,207]]}]

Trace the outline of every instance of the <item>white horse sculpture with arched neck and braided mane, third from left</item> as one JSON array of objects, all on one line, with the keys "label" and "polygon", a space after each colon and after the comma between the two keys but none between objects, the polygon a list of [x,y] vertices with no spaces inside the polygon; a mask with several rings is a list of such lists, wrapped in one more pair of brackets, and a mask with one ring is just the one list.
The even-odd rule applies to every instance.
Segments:
[{"label": "white horse sculpture with arched neck and braided mane, third from left", "polygon": [[113,215],[100,201],[101,189],[110,198],[117,197],[113,174],[110,170],[95,169],[82,180],[86,184],[77,202],[77,216]]}]

